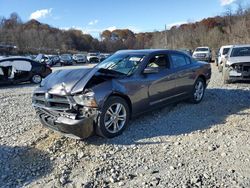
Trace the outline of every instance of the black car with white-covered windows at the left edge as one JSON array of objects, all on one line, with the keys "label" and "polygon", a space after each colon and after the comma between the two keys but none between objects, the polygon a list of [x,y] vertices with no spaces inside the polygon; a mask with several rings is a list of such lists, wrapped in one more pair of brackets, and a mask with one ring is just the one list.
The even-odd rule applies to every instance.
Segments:
[{"label": "black car with white-covered windows at the left edge", "polygon": [[0,60],[0,84],[27,81],[38,84],[51,72],[46,64],[29,58],[12,57]]}]

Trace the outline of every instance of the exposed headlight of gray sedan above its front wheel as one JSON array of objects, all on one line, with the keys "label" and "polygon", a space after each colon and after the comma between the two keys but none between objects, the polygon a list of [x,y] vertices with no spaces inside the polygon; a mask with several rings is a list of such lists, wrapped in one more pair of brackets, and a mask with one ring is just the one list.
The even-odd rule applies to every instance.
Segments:
[{"label": "exposed headlight of gray sedan above its front wheel", "polygon": [[73,99],[79,105],[88,107],[97,107],[97,103],[94,98],[94,92],[92,91],[84,94],[75,95]]}]

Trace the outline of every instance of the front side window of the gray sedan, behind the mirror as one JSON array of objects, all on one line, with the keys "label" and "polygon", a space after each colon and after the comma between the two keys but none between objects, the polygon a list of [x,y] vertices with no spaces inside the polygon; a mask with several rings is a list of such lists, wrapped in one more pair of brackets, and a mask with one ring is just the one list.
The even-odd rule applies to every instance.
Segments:
[{"label": "front side window of the gray sedan, behind the mirror", "polygon": [[159,71],[169,69],[170,63],[167,55],[155,55],[149,60],[147,67],[158,68]]}]

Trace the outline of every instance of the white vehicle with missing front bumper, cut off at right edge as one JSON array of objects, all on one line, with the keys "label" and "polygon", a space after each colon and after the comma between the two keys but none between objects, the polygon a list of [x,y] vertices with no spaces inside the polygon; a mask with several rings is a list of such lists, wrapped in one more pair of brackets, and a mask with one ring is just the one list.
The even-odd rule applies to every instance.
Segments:
[{"label": "white vehicle with missing front bumper, cut off at right edge", "polygon": [[250,44],[234,45],[223,60],[224,83],[250,80]]}]

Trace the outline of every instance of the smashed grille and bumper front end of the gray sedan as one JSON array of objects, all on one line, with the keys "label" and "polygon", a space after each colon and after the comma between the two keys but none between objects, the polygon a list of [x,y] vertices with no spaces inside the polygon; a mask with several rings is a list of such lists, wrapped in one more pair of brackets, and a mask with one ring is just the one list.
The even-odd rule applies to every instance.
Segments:
[{"label": "smashed grille and bumper front end of the gray sedan", "polygon": [[35,92],[32,104],[41,123],[68,137],[87,138],[94,132],[97,107],[83,106],[72,95]]}]

